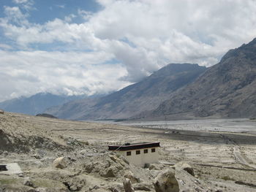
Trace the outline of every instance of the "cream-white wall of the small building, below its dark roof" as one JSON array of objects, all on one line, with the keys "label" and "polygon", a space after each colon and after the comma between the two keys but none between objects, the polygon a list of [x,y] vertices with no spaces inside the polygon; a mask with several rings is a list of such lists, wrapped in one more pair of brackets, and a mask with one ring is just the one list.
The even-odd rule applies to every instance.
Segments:
[{"label": "cream-white wall of the small building, below its dark roof", "polygon": [[[152,153],[151,149],[155,149]],[[144,153],[144,150],[148,150],[148,153]],[[131,152],[131,155],[127,156],[127,152]],[[136,154],[136,150],[117,151],[118,154],[123,155],[124,158],[129,161],[130,164],[144,167],[145,164],[156,164],[159,160],[159,147],[140,149],[140,154]]]}]

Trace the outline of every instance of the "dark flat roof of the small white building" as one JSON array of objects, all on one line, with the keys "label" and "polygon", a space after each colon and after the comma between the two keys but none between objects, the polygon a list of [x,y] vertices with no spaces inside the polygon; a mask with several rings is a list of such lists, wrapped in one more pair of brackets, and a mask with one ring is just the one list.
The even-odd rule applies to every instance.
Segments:
[{"label": "dark flat roof of the small white building", "polygon": [[127,143],[124,145],[109,145],[108,150],[140,150],[151,147],[160,147],[160,142]]}]

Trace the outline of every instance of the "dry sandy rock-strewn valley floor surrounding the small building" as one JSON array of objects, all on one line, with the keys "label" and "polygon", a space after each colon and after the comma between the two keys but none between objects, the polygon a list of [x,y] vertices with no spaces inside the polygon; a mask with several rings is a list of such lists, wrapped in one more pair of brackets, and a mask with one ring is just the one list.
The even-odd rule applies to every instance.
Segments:
[{"label": "dry sandy rock-strewn valley floor surrounding the small building", "polygon": [[[108,151],[125,142],[160,142],[159,163],[127,164]],[[168,122],[83,122],[0,114],[0,191],[155,191],[165,169],[189,164],[191,175],[175,169],[180,191],[256,191],[256,121],[184,120]],[[66,159],[58,168],[53,161]]]}]

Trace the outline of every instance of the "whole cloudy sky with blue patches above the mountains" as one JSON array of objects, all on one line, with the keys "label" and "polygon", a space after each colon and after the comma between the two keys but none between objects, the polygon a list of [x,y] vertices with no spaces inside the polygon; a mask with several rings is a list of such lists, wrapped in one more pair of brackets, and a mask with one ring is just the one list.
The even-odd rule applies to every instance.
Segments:
[{"label": "whole cloudy sky with blue patches above the mountains", "polygon": [[0,101],[110,93],[255,37],[255,0],[0,0]]}]

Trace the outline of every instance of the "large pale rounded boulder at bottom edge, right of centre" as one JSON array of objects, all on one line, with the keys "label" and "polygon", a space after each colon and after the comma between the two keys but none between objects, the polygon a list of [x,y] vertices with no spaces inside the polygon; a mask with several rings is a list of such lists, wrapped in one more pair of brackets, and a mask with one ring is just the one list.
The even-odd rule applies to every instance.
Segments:
[{"label": "large pale rounded boulder at bottom edge, right of centre", "polygon": [[156,192],[179,192],[178,181],[173,169],[165,169],[160,172],[153,184]]}]

